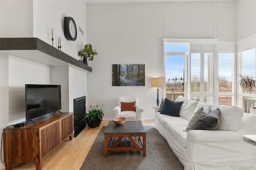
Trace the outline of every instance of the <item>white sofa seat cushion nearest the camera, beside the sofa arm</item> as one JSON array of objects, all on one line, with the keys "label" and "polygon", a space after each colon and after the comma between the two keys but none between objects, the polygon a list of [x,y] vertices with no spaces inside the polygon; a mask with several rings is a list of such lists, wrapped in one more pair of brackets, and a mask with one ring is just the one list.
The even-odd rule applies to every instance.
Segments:
[{"label": "white sofa seat cushion nearest the camera, beside the sofa arm", "polygon": [[[181,119],[184,119],[180,117]],[[186,125],[188,124],[188,120],[184,121],[169,121],[166,122],[166,134],[172,135],[173,140],[178,141],[183,147],[186,147],[187,143],[187,132],[184,131]]]}]

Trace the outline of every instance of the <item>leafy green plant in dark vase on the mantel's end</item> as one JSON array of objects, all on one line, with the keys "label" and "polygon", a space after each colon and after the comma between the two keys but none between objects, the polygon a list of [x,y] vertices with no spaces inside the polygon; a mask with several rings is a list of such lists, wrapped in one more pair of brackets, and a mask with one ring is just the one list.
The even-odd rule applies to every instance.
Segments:
[{"label": "leafy green plant in dark vase on the mantel's end", "polygon": [[94,56],[98,55],[98,52],[96,50],[92,49],[92,44],[85,44],[84,49],[81,51],[78,51],[78,56],[82,57],[82,62],[87,65],[87,59],[88,61],[92,61]]}]

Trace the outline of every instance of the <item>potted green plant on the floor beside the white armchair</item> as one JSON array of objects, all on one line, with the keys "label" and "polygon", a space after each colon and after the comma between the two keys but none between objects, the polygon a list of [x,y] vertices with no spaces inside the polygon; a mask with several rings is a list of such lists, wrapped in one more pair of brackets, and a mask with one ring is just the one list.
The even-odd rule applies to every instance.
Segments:
[{"label": "potted green plant on the floor beside the white armchair", "polygon": [[88,113],[85,113],[85,120],[89,127],[95,128],[100,126],[100,122],[102,121],[102,118],[104,116],[104,113],[102,111],[102,107],[99,107],[95,103],[90,106],[91,110],[89,110]]}]

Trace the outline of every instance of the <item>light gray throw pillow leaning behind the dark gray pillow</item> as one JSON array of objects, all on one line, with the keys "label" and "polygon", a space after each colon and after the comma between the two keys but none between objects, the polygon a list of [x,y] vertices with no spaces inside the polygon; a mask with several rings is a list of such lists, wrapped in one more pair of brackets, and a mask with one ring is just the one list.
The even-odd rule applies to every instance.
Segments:
[{"label": "light gray throw pillow leaning behind the dark gray pillow", "polygon": [[208,106],[208,107],[199,108],[196,112],[194,112],[194,114],[191,116],[190,120],[188,121],[188,125],[186,127],[186,132],[188,132],[188,130],[193,130],[196,122],[198,122],[204,116],[209,114],[210,110],[211,110],[211,106]]}]

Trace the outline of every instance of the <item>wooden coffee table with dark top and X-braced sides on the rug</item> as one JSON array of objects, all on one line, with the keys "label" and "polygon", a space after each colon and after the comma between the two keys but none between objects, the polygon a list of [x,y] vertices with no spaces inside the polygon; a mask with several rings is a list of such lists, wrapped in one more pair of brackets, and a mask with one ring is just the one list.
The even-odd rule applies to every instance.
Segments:
[{"label": "wooden coffee table with dark top and X-braced sides on the rug", "polygon": [[146,131],[140,120],[116,125],[110,121],[104,132],[105,157],[108,152],[142,151],[146,156]]}]

